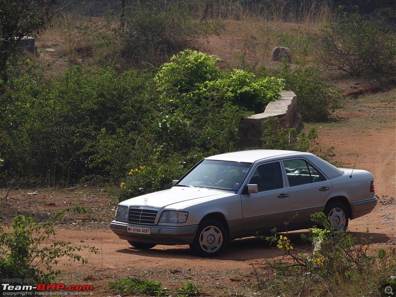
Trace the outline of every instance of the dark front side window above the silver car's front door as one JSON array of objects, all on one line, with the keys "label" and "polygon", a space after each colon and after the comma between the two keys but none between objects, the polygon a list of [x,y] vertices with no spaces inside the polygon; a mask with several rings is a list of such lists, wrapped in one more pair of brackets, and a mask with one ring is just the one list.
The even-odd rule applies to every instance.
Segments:
[{"label": "dark front side window above the silver car's front door", "polygon": [[282,189],[281,165],[279,162],[274,162],[257,166],[249,184],[256,184],[258,186],[258,192]]}]

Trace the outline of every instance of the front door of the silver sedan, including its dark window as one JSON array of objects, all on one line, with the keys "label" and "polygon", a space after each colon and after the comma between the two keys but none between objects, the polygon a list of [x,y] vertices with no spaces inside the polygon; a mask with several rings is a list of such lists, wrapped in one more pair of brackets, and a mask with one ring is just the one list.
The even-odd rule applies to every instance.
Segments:
[{"label": "front door of the silver sedan, including its dark window", "polygon": [[241,197],[245,233],[282,229],[290,216],[289,193],[280,162],[258,164],[247,184],[257,184],[258,193]]}]

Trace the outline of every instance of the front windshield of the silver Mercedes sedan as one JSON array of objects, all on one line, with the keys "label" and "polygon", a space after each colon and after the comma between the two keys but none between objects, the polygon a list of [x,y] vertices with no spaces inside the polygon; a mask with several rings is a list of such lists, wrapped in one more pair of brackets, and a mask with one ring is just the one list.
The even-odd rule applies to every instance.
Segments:
[{"label": "front windshield of the silver Mercedes sedan", "polygon": [[203,160],[176,186],[237,191],[251,163]]}]

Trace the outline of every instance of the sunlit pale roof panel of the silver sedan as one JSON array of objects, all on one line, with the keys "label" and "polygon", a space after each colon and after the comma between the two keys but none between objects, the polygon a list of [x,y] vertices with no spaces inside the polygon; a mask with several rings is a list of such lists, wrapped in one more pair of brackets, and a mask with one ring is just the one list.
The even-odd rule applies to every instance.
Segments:
[{"label": "sunlit pale roof panel of the silver sedan", "polygon": [[303,153],[300,151],[293,150],[280,150],[280,149],[252,149],[252,150],[242,150],[236,152],[227,152],[214,156],[207,157],[207,160],[221,160],[221,161],[233,161],[233,162],[248,162],[253,163],[258,160],[277,157],[277,156],[295,156],[304,155],[310,153]]}]

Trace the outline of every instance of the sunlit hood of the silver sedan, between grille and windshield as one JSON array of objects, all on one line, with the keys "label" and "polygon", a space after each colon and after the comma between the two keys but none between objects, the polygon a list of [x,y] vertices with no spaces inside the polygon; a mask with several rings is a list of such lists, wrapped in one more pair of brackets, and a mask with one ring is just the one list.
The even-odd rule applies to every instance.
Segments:
[{"label": "sunlit hood of the silver sedan, between grille and windshield", "polygon": [[173,209],[181,209],[183,207],[203,201],[223,198],[231,195],[234,195],[234,192],[217,189],[176,186],[168,190],[130,198],[120,202],[119,204],[125,206],[146,206],[154,208],[170,207]]}]

